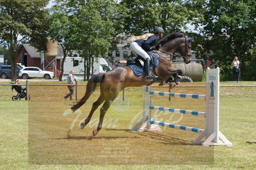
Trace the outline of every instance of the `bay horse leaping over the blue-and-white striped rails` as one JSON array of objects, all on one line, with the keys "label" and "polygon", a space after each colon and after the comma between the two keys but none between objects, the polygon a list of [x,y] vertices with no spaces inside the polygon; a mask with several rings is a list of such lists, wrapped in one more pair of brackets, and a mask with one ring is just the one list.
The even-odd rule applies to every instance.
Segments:
[{"label": "bay horse leaping over the blue-and-white striped rails", "polygon": [[[192,38],[184,37],[180,33],[173,33],[164,36],[164,38],[159,41],[159,50],[152,51],[159,59],[159,65],[155,68],[155,73],[158,76],[157,80],[166,81],[170,79],[171,76],[177,78],[178,75],[182,74],[180,69],[172,68],[172,57],[173,54],[178,51],[180,55],[182,55],[184,62],[188,64],[191,61],[191,39]],[[90,139],[92,139],[102,128],[104,115],[121,90],[125,89],[125,87],[150,85],[153,82],[154,80],[146,80],[145,74],[136,76],[129,66],[116,67],[106,73],[93,75],[87,83],[84,96],[74,104],[71,109],[74,112],[83,106],[96,89],[97,84],[99,84],[100,96],[97,101],[93,103],[92,110],[88,117],[80,124],[81,129],[84,129],[90,122],[94,111],[104,102],[102,108],[100,108],[99,125],[97,126],[97,130],[94,130],[90,137]]]}]

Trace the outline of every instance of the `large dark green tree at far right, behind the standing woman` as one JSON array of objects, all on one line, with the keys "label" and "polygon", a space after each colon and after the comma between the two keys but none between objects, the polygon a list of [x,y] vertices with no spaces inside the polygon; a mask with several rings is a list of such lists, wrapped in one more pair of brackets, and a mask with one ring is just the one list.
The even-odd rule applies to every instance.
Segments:
[{"label": "large dark green tree at far right, behind the standing woman", "polygon": [[[253,57],[256,37],[256,1],[205,1],[201,8],[204,19],[200,34],[204,35],[204,54],[218,60],[223,80],[231,78],[231,62],[235,55],[241,61],[241,78],[256,80],[256,60]],[[207,57],[207,56],[205,56]]]}]

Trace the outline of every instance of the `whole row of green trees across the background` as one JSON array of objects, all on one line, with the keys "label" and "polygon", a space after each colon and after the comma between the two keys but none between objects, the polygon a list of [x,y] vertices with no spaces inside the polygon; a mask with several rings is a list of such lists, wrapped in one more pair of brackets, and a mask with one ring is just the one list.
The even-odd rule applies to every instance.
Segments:
[{"label": "whole row of green trees across the background", "polygon": [[[7,46],[12,80],[19,45],[29,42],[46,50],[47,37],[58,41],[64,59],[72,50],[84,57],[84,80],[93,60],[115,50],[124,37],[166,31],[193,36],[198,59],[221,68],[221,79],[231,80],[234,56],[241,61],[242,80],[256,80],[256,1],[203,0],[0,0],[0,43]],[[195,30],[191,31],[189,25]],[[63,69],[63,63],[61,64]],[[61,71],[62,76],[63,71]],[[61,77],[60,77],[61,80]]]}]

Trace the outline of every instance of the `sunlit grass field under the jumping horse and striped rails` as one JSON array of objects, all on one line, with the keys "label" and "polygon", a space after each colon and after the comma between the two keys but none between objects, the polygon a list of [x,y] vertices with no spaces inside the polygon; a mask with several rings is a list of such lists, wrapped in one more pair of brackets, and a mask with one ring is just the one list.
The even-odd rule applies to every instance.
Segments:
[{"label": "sunlit grass field under the jumping horse and striped rails", "polygon": [[[45,82],[44,82],[45,83]],[[54,82],[58,83],[58,82]],[[256,82],[221,85],[256,85]],[[191,85],[189,83],[183,85]],[[204,83],[193,83],[204,85]],[[79,97],[84,94],[79,87]],[[166,91],[168,89],[155,88]],[[173,92],[204,94],[204,88],[176,88]],[[232,147],[191,145],[199,134],[163,128],[163,132],[129,132],[142,116],[142,88],[129,88],[109,108],[100,133],[99,109],[90,124],[79,129],[99,91],[81,108],[69,114],[64,101],[67,87],[31,86],[31,101],[11,101],[10,86],[0,86],[0,169],[256,169],[256,87],[221,88],[220,130]],[[204,111],[202,101],[154,97],[155,105]],[[204,129],[204,118],[154,112],[152,117],[170,123]],[[67,138],[68,129],[71,138]]]}]

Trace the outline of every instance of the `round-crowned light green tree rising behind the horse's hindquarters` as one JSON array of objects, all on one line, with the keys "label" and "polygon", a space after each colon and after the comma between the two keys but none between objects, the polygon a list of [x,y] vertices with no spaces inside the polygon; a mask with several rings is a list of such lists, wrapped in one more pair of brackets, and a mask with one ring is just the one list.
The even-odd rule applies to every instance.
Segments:
[{"label": "round-crowned light green tree rising behind the horse's hindquarters", "polygon": [[118,17],[120,6],[113,0],[67,0],[56,1],[56,4],[51,36],[84,57],[88,79],[93,60],[108,54],[113,37],[122,29],[122,20]]}]

